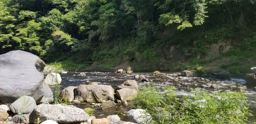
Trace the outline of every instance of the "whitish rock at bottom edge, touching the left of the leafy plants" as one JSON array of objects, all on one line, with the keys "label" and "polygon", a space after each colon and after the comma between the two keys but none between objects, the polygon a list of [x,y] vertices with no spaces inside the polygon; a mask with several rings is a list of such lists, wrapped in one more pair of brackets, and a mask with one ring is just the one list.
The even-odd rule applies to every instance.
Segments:
[{"label": "whitish rock at bottom edge, touching the left of the leafy plants", "polygon": [[148,124],[151,123],[151,115],[146,114],[143,109],[131,109],[123,118],[124,121],[131,121],[139,124]]}]

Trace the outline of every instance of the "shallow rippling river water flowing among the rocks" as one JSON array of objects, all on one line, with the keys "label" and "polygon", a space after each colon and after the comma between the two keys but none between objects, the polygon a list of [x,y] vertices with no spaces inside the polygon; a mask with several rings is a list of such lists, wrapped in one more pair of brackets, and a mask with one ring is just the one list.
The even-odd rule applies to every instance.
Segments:
[{"label": "shallow rippling river water flowing among the rocks", "polygon": [[[187,77],[179,77],[179,82],[174,82],[171,80],[162,79],[161,77],[154,76],[153,72],[135,72],[135,73],[114,73],[114,72],[85,72],[86,76],[77,76],[80,72],[68,72],[66,74],[60,74],[62,78],[62,82],[60,84],[60,89],[64,89],[68,86],[79,86],[80,84],[86,84],[87,81],[90,82],[99,82],[103,85],[111,85],[114,89],[121,85],[126,80],[136,80],[139,86],[145,86],[147,84],[155,85],[158,87],[165,86],[174,86],[177,88],[177,95],[191,95],[190,88],[200,88],[202,84],[206,84],[204,81],[208,81],[211,83],[217,83],[222,90],[228,90],[231,86],[234,85],[244,85],[246,81],[244,80],[244,76],[241,75],[231,75],[231,80],[220,80],[216,79],[211,75],[202,75],[197,76],[197,78],[187,78]],[[177,72],[165,72],[170,76],[177,76]],[[136,75],[143,75],[148,79],[148,82],[141,82],[139,79],[135,79]],[[54,87],[52,87],[54,88]],[[205,89],[206,91],[216,91],[213,88],[200,88]],[[252,90],[252,88],[246,88],[245,93],[248,96],[248,105],[251,113],[254,115],[250,117],[251,119],[256,119],[256,92]],[[129,111],[129,109],[134,108],[133,102],[128,102],[129,106],[124,107],[118,104],[114,108],[109,109],[96,109],[94,115],[96,118],[106,117],[108,115],[118,114],[122,119],[123,116],[120,114],[123,111]],[[76,105],[79,108],[90,107],[89,103]]]}]

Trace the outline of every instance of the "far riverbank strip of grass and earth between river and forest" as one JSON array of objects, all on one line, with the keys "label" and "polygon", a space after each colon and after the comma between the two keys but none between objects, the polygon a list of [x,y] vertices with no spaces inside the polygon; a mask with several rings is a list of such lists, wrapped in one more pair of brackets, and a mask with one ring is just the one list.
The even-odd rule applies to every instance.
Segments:
[{"label": "far riverbank strip of grass and earth between river and forest", "polygon": [[[203,59],[192,59],[189,61],[178,61],[172,64],[162,65],[162,67],[155,69],[159,71],[182,71],[182,70],[197,70],[198,73],[213,73],[220,72],[223,70],[229,71],[232,74],[245,74],[250,72],[250,68],[255,66],[253,58],[242,58],[241,57],[228,57],[220,56],[215,60],[203,60]],[[156,65],[159,66],[159,65]],[[50,71],[115,71],[118,69],[126,69],[131,67],[132,70],[139,71],[135,63],[124,61],[116,66],[112,66],[108,63],[93,62],[89,65],[86,63],[76,63],[73,61],[61,61],[54,63],[47,63],[45,72]],[[143,68],[146,71],[146,67]]]}]

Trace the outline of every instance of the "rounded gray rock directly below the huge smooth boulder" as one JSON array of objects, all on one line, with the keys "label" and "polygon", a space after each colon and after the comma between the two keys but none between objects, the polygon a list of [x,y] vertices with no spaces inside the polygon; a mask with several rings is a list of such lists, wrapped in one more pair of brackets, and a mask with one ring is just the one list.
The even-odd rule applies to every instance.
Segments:
[{"label": "rounded gray rock directly below the huge smooth boulder", "polygon": [[24,95],[10,105],[14,114],[27,114],[34,110],[36,103],[33,97]]}]

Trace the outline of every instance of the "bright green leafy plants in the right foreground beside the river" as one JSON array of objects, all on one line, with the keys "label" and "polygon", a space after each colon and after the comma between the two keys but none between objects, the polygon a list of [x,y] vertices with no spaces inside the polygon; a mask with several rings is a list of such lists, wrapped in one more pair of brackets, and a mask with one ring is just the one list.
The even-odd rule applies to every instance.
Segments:
[{"label": "bright green leafy plants in the right foreground beside the river", "polygon": [[135,103],[152,115],[153,123],[248,123],[252,114],[242,92],[216,92],[191,89],[193,96],[177,97],[175,88],[142,87]]}]

